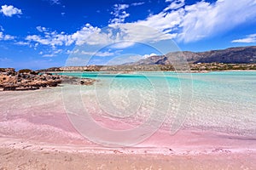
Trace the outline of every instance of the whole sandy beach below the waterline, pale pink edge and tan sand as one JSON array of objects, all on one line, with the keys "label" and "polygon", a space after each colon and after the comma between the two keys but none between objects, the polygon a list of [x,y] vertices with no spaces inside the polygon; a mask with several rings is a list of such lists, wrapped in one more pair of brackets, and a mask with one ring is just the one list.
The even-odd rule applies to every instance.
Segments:
[{"label": "whole sandy beach below the waterline, pale pink edge and tan sand", "polygon": [[[197,140],[191,136],[189,141]],[[202,141],[201,141],[202,142]],[[204,141],[207,142],[207,141]],[[209,142],[209,141],[208,141]],[[234,141],[236,143],[236,141]],[[233,143],[233,144],[234,144]],[[242,144],[242,143],[241,143]],[[241,145],[240,144],[240,145]],[[3,139],[1,169],[255,169],[255,144],[231,149],[228,145],[191,144],[187,148],[104,149],[78,145],[42,144]],[[179,147],[179,148],[178,148]],[[234,147],[234,146],[233,146]],[[179,150],[179,151],[176,151]]]}]

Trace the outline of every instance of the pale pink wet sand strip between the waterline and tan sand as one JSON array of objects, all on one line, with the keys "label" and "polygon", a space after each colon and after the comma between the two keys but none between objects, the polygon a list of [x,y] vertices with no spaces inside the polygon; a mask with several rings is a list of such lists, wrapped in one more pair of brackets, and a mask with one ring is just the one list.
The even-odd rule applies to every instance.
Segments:
[{"label": "pale pink wet sand strip between the waterline and tan sand", "polygon": [[[180,138],[177,136],[177,138]],[[195,139],[195,137],[191,137]],[[235,145],[183,145],[173,144],[172,146],[143,146],[135,145],[130,147],[107,147],[102,145],[87,144],[54,144],[27,139],[14,139],[10,137],[0,137],[1,149],[31,150],[31,151],[61,151],[64,153],[81,154],[125,154],[129,155],[155,155],[155,156],[197,156],[197,155],[215,155],[221,153],[228,154],[252,154],[256,156],[256,144],[251,143],[251,147],[236,147]],[[238,144],[237,144],[238,145]],[[250,145],[250,144],[248,144]],[[255,157],[256,158],[256,157]]]}]

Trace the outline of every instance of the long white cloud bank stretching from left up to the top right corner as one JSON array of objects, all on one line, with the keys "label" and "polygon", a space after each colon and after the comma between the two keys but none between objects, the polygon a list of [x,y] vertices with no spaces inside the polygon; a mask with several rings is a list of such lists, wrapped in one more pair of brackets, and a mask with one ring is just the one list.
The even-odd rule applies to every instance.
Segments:
[{"label": "long white cloud bank stretching from left up to the top right corner", "polygon": [[[109,21],[107,29],[86,24],[78,31],[66,34],[38,26],[40,35],[29,35],[26,40],[53,48],[71,44],[80,46],[111,43],[111,48],[127,48],[135,42],[159,42],[173,38],[183,42],[195,42],[230,31],[256,17],[255,0],[237,1],[236,5],[232,0],[218,0],[215,3],[201,1],[192,5],[185,5],[184,0],[166,0],[166,3],[169,4],[159,14],[151,14],[145,20],[132,23],[124,23],[128,16],[125,9],[132,4],[115,4],[111,13],[113,19]],[[136,5],[139,4],[133,4]],[[254,35],[250,35],[233,42],[253,42],[254,38]]]}]

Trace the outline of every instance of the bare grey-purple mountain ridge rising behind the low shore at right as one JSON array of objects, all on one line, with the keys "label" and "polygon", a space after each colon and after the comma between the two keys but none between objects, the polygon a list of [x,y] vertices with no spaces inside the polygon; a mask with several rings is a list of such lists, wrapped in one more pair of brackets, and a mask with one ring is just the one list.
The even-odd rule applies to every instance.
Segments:
[{"label": "bare grey-purple mountain ridge rising behind the low shore at right", "polygon": [[199,53],[190,51],[173,52],[166,55],[150,56],[125,65],[172,65],[177,59],[186,59],[190,64],[253,64],[256,63],[256,46],[227,48]]}]

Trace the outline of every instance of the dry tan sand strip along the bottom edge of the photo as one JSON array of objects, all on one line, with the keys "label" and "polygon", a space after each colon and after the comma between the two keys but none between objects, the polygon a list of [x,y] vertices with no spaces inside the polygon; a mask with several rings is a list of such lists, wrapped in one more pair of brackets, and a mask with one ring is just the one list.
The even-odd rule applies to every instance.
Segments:
[{"label": "dry tan sand strip along the bottom edge of the photo", "polygon": [[255,169],[255,153],[89,154],[42,148],[0,149],[1,169]]}]

